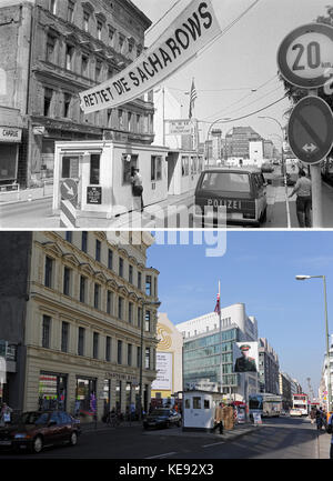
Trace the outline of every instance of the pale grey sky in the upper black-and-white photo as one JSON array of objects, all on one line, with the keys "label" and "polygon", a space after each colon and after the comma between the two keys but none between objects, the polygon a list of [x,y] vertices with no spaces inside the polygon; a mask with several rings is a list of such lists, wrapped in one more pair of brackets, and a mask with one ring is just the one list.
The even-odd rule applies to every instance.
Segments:
[{"label": "pale grey sky in the upper black-and-white photo", "polygon": [[[164,28],[172,23],[178,12],[190,3],[190,0],[132,1],[153,22],[147,32],[147,47],[151,46]],[[229,27],[254,1],[212,0],[221,29]],[[279,47],[292,30],[325,14],[327,4],[330,0],[259,0],[216,42],[165,80],[164,87],[184,106],[185,117],[189,108],[189,96],[185,96],[185,92],[191,89],[194,78],[198,91],[194,117],[208,122],[200,124],[201,141],[205,139],[206,130],[214,120],[245,116],[283,97],[283,83],[276,77]],[[252,92],[252,89],[256,91]],[[251,126],[262,137],[271,138],[276,147],[281,147],[276,137],[281,137],[279,124],[272,120],[258,119],[258,116],[273,117],[285,126],[284,112],[289,108],[290,101],[284,99],[261,113],[219,127],[224,136],[232,127]]]}]

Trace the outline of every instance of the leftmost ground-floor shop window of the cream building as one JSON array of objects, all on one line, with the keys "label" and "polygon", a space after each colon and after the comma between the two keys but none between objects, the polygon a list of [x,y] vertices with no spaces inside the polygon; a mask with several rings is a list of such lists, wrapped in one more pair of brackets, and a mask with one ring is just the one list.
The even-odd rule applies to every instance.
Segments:
[{"label": "leftmost ground-floor shop window of the cream building", "polygon": [[65,410],[67,375],[41,372],[39,377],[39,410]]}]

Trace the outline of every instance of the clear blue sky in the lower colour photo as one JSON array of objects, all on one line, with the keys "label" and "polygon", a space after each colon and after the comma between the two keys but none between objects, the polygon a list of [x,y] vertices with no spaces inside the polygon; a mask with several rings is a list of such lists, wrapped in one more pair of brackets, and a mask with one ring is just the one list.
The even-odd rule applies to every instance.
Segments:
[{"label": "clear blue sky in the lower colour photo", "polygon": [[[221,234],[222,236],[222,234]],[[164,244],[162,241],[164,239]],[[221,307],[244,303],[258,320],[259,337],[279,355],[280,369],[317,395],[326,350],[322,279],[325,275],[329,331],[333,333],[333,231],[228,231],[224,255],[206,257],[212,239],[201,245],[167,243],[159,233],[148,250],[148,265],[160,271],[160,312],[174,323],[213,312],[221,282]],[[221,238],[222,239],[222,238]],[[222,250],[221,250],[222,251]]]}]

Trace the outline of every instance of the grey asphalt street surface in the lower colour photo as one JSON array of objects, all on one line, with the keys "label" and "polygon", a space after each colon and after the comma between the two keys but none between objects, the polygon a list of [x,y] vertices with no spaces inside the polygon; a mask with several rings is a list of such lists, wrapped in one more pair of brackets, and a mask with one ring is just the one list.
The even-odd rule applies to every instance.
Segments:
[{"label": "grey asphalt street surface in the lower colour photo", "polygon": [[264,419],[234,439],[228,434],[183,432],[181,428],[143,431],[140,425],[83,432],[75,447],[46,448],[39,454],[0,454],[0,459],[327,459],[330,435],[307,419]]}]

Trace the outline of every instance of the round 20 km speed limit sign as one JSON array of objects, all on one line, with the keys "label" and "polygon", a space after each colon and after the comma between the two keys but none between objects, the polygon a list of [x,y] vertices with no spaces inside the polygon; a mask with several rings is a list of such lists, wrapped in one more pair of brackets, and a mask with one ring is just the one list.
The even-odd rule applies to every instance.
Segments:
[{"label": "round 20 km speed limit sign", "polygon": [[293,30],[279,48],[278,66],[293,86],[323,87],[333,74],[333,27],[309,23]]}]

